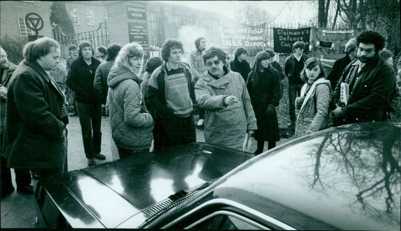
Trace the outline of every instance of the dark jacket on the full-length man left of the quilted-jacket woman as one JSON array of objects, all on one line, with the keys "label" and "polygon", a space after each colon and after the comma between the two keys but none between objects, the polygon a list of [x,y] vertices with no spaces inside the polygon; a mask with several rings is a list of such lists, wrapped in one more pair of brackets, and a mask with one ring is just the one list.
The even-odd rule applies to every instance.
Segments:
[{"label": "dark jacket on the full-length man left of the quilted-jacket woman", "polygon": [[100,61],[92,57],[92,68],[88,68],[82,57],[75,59],[68,69],[67,86],[74,91],[77,102],[97,104],[100,100],[95,95],[93,81]]}]

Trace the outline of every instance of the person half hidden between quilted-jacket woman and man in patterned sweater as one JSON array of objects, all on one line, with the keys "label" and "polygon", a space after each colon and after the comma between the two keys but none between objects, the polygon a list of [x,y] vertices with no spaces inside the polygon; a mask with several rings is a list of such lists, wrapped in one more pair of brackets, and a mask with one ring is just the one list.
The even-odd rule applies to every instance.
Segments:
[{"label": "person half hidden between quilted-jacket woman and man in patterned sweater", "polygon": [[149,105],[146,97],[146,89],[147,84],[149,83],[150,75],[153,71],[163,64],[163,59],[158,56],[150,57],[145,63],[145,72],[143,73],[143,81],[141,83],[141,92],[143,101],[145,101],[147,110],[152,115],[154,120],[154,128],[153,128],[153,150],[161,150],[167,147],[166,139],[164,137],[167,136],[166,130],[163,126],[163,121],[161,119],[157,119],[155,115],[155,110]]}]

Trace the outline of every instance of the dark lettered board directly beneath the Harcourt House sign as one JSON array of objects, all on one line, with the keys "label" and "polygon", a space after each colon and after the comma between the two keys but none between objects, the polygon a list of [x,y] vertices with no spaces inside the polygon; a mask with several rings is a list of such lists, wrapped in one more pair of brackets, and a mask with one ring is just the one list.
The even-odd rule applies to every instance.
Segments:
[{"label": "dark lettered board directly beneath the Harcourt House sign", "polygon": [[149,57],[149,43],[146,23],[128,22],[129,42],[137,42],[143,47],[143,58]]}]

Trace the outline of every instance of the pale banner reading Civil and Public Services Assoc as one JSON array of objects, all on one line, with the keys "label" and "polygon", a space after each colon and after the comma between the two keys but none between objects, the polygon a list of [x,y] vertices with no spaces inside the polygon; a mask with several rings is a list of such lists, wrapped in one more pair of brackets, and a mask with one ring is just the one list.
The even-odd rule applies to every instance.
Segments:
[{"label": "pale banner reading Civil and Public Services Assoc", "polygon": [[265,43],[265,25],[239,24],[235,27],[220,26],[220,40],[223,47],[262,46]]}]

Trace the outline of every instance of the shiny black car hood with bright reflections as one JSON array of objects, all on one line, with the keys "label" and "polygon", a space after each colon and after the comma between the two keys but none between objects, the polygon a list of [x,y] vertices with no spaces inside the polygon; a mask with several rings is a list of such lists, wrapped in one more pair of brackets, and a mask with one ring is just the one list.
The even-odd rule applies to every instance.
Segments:
[{"label": "shiny black car hood with bright reflections", "polygon": [[169,195],[221,177],[253,155],[191,143],[50,176],[42,186],[72,227],[116,227]]}]

